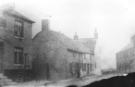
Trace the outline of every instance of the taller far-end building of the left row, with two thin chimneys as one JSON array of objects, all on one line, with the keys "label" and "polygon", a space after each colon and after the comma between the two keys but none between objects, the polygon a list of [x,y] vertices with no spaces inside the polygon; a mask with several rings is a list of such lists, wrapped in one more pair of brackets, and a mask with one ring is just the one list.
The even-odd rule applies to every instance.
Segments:
[{"label": "taller far-end building of the left row, with two thin chimneys", "polygon": [[[81,56],[83,63],[85,62],[83,66],[86,66],[86,72],[84,73],[96,74],[95,70],[96,70],[97,63],[95,58],[95,46],[98,39],[97,30],[95,29],[93,38],[79,38],[77,33],[75,33],[73,39],[76,42],[76,44],[82,44],[83,45],[82,48],[84,48],[85,50],[88,49],[87,52],[86,51],[83,52],[83,56]],[[85,69],[83,66],[82,66],[82,70]]]}]

